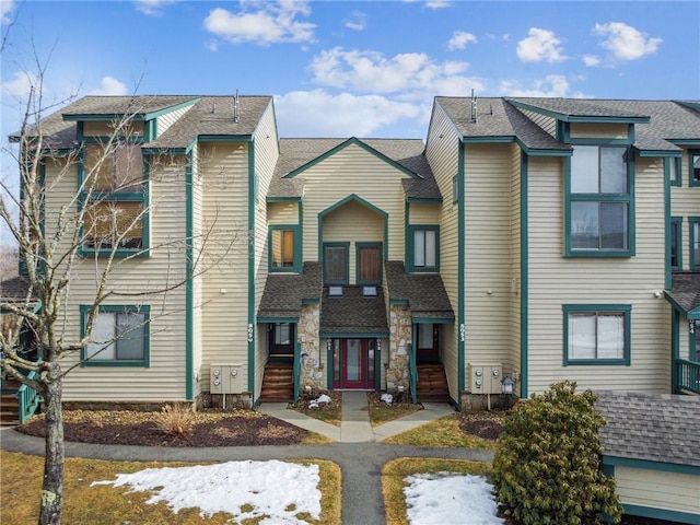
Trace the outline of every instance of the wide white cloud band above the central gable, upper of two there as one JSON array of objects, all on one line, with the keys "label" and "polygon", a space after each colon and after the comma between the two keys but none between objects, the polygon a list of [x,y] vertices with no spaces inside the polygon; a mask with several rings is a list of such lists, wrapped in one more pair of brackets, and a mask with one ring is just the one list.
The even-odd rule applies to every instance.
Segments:
[{"label": "wide white cloud band above the central gable, upper of two there", "polygon": [[[467,62],[435,62],[422,52],[406,52],[389,59],[378,51],[345,50],[336,47],[315,56],[311,70],[314,82],[322,85],[369,93],[417,92],[429,95],[464,95],[482,82],[463,73]],[[427,96],[427,95],[423,95]]]}]

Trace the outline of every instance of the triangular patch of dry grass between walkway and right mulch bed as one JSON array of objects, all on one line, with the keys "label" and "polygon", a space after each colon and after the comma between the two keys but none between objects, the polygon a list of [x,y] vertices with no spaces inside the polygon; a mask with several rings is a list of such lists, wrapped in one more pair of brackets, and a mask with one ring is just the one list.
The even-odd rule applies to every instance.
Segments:
[{"label": "triangular patch of dry grass between walkway and right mulch bed", "polygon": [[387,438],[383,443],[495,450],[494,441],[467,434],[459,428],[459,415],[445,416],[401,434]]}]

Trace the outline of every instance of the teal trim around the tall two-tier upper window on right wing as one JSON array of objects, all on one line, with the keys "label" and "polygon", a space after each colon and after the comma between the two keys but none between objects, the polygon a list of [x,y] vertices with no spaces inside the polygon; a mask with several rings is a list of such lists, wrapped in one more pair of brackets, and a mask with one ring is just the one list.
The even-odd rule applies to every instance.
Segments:
[{"label": "teal trim around the tall two-tier upper window on right wing", "polygon": [[[576,141],[578,142],[578,141]],[[633,257],[635,255],[635,211],[634,211],[634,159],[632,150],[625,145],[609,145],[607,143],[586,144],[598,145],[598,168],[600,148],[620,148],[627,150],[627,192],[580,192],[571,191],[571,162],[572,158],[564,159],[564,255],[567,257]],[[575,154],[575,152],[574,152]],[[598,202],[598,203],[627,203],[627,248],[573,248],[571,242],[571,222],[573,202]]]}]

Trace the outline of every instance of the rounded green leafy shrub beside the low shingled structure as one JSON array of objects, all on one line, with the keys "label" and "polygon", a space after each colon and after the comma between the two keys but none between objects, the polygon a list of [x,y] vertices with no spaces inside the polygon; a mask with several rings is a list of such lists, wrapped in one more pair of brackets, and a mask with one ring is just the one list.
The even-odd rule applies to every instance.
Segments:
[{"label": "rounded green leafy shrub beside the low shingled structure", "polygon": [[493,485],[505,513],[524,525],[619,523],[615,480],[603,474],[598,429],[605,418],[591,390],[556,383],[521,402],[503,424]]}]

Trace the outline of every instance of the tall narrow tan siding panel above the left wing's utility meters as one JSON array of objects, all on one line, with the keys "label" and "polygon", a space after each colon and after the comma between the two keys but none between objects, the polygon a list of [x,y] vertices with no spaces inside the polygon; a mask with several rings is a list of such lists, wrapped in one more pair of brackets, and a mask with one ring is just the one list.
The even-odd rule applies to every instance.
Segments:
[{"label": "tall narrow tan siding panel above the left wing's utility meters", "polygon": [[206,258],[221,261],[206,273],[202,290],[205,385],[211,363],[244,364],[243,385],[248,385],[248,151],[246,142],[199,148],[205,230],[217,232]]}]

